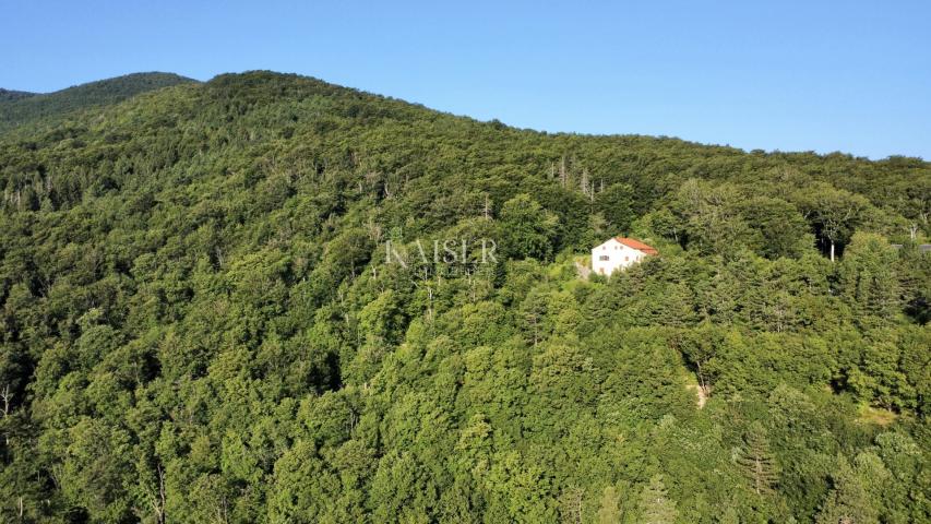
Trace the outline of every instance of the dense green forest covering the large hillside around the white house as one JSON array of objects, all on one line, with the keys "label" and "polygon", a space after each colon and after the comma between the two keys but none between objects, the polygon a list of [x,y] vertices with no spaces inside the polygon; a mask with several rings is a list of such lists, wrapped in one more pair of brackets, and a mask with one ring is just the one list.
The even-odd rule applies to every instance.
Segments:
[{"label": "dense green forest covering the large hillside around the white house", "polygon": [[0,521],[931,520],[931,164],[169,84],[3,117]]}]

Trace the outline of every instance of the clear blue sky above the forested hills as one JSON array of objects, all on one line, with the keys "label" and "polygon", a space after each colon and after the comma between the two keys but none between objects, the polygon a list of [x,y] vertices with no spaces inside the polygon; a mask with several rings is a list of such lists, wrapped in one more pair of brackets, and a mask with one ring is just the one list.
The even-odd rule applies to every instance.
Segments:
[{"label": "clear blue sky above the forested hills", "polygon": [[928,1],[0,1],[0,87],[270,69],[481,120],[931,159]]}]

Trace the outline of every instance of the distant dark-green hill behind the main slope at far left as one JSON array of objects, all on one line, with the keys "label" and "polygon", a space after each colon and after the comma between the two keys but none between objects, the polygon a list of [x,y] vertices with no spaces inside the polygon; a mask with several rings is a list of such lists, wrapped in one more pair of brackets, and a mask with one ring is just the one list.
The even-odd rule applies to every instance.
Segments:
[{"label": "distant dark-green hill behind the main slope at far left", "polygon": [[0,90],[0,131],[188,82],[196,81],[174,73],[153,72],[89,82],[48,94]]}]

